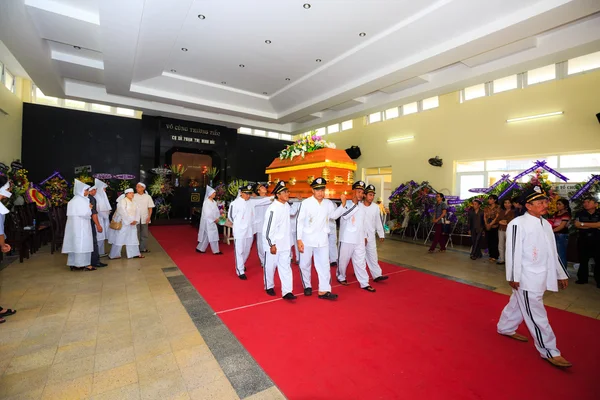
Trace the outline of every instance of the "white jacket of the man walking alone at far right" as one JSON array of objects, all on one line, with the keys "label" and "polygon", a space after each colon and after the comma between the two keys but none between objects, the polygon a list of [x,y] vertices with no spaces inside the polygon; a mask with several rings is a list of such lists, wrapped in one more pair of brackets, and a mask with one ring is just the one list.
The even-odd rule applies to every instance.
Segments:
[{"label": "white jacket of the man walking alone at far right", "polygon": [[506,280],[531,292],[558,292],[557,279],[567,279],[556,251],[552,226],[528,212],[506,228]]}]

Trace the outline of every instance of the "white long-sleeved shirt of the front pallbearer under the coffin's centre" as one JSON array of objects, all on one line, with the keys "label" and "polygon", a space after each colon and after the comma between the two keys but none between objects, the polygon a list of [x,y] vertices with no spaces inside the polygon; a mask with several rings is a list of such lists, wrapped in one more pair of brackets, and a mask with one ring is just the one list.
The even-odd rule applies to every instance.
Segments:
[{"label": "white long-sleeved shirt of the front pallbearer under the coffin's centre", "polygon": [[325,247],[329,245],[329,218],[339,218],[341,212],[331,211],[331,201],[323,199],[321,203],[314,196],[302,201],[298,213],[296,237],[305,246]]}]

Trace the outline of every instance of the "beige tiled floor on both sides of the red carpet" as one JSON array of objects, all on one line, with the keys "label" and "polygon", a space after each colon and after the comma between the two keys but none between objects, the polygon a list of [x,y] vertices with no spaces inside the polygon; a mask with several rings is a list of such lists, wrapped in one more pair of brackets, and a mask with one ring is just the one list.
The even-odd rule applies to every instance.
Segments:
[{"label": "beige tiled floor on both sides of the red carpet", "polygon": [[[202,329],[190,311],[201,297],[153,239],[150,249],[144,260],[94,272],[71,272],[65,256],[44,251],[0,271],[0,305],[18,310],[0,325],[0,399],[284,398],[275,386],[246,396],[214,346],[233,339]],[[502,266],[426,250],[387,240],[380,258],[510,293]],[[186,291],[200,300],[182,297]],[[571,285],[545,301],[600,318],[594,285]]]}]

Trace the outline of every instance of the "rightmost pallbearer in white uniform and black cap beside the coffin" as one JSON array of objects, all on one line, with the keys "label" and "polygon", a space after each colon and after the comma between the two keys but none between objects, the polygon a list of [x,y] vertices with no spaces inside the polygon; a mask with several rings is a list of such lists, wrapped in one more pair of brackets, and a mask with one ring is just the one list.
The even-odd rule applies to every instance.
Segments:
[{"label": "rightmost pallbearer in white uniform and black cap beside the coffin", "polygon": [[[382,275],[381,267],[379,266],[377,236],[379,236],[379,241],[383,242],[385,232],[383,231],[383,223],[381,222],[381,210],[373,200],[375,200],[375,186],[368,185],[365,189],[365,201],[361,204],[365,210],[365,230],[367,232],[366,260],[373,281],[381,282],[388,279],[388,277]],[[376,234],[377,236],[375,236]]]}]

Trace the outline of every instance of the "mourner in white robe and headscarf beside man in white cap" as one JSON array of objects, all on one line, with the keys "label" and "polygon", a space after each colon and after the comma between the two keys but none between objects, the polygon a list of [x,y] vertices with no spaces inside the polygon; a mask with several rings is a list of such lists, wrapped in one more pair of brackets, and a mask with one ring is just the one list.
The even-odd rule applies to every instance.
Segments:
[{"label": "mourner in white robe and headscarf beside man in white cap", "polygon": [[113,220],[121,221],[121,229],[113,230],[112,248],[108,257],[110,259],[121,258],[121,249],[125,246],[127,258],[143,258],[140,255],[140,242],[136,227],[140,222],[140,212],[133,202],[133,189],[126,189],[125,194],[117,200],[117,210]]}]

